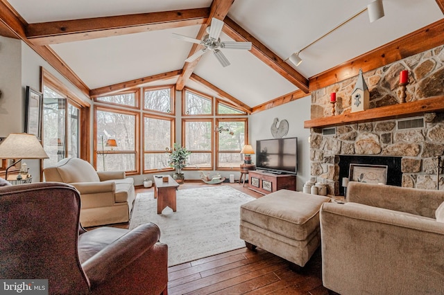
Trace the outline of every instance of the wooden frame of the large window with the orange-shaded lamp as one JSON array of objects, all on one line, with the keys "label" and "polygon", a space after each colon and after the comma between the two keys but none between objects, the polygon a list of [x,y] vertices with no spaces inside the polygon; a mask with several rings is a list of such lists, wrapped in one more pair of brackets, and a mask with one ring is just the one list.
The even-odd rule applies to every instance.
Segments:
[{"label": "wooden frame of the large window with the orange-shaded lamp", "polygon": [[94,141],[94,157],[93,157],[93,165],[94,168],[97,169],[97,163],[99,161],[99,154],[102,154],[99,151],[99,143],[97,142],[97,111],[110,111],[118,114],[125,115],[134,115],[135,116],[135,142],[134,147],[135,150],[110,150],[105,151],[105,154],[134,154],[135,155],[135,170],[126,171],[126,175],[139,175],[140,174],[140,112],[126,109],[117,109],[116,107],[108,107],[103,105],[94,105],[94,132],[93,132],[93,141]]}]

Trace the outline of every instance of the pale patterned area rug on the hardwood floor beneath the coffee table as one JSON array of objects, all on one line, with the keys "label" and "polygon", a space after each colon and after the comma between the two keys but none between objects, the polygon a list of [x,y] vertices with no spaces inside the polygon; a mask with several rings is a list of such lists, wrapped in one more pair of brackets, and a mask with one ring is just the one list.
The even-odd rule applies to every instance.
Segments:
[{"label": "pale patterned area rug on the hardwood floor beneath the coffee table", "polygon": [[176,193],[177,211],[167,207],[159,215],[153,193],[139,193],[130,221],[130,229],[146,222],[159,226],[169,267],[245,247],[239,238],[239,210],[254,197],[221,185]]}]

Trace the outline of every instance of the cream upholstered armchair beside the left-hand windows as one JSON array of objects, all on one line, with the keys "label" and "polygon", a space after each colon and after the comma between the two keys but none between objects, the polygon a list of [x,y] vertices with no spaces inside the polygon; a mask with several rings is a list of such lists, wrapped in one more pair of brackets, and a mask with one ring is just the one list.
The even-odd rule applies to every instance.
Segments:
[{"label": "cream upholstered armchair beside the left-hand windows", "polygon": [[128,222],[135,199],[134,179],[123,171],[96,172],[85,160],[67,158],[44,169],[45,181],[64,182],[80,192],[83,226]]}]

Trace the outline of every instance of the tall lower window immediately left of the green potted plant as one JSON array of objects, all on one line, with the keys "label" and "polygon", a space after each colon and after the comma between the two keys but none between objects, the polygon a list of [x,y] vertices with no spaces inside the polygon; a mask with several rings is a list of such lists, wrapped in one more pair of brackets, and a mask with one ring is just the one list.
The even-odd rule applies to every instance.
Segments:
[{"label": "tall lower window immediately left of the green potted plant", "polygon": [[144,115],[144,171],[169,169],[167,148],[173,146],[175,120]]}]

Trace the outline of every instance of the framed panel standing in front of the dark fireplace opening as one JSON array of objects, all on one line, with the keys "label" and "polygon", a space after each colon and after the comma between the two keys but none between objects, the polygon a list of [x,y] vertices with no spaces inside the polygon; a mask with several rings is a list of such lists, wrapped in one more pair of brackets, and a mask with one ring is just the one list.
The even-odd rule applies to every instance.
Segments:
[{"label": "framed panel standing in front of the dark fireplace opening", "polygon": [[386,165],[350,164],[350,181],[387,184]]}]

